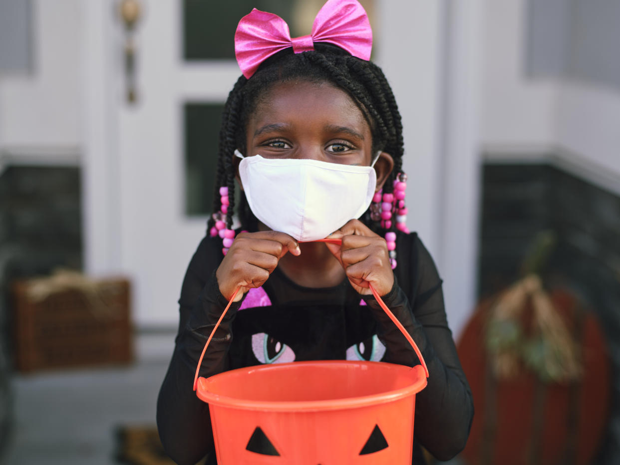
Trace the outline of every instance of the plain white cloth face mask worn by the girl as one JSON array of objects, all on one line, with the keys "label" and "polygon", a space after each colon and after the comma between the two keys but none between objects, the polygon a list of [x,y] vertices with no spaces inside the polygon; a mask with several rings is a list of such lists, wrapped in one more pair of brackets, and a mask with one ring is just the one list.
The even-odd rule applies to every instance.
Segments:
[{"label": "plain white cloth face mask worn by the girl", "polygon": [[324,239],[360,218],[373,200],[378,154],[371,166],[235,154],[242,158],[239,175],[254,216],[300,242]]}]

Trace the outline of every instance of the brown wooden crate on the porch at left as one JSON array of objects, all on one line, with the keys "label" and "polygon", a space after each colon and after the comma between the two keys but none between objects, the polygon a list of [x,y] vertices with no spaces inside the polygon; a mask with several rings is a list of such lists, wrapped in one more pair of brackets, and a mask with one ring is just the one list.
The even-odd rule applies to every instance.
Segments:
[{"label": "brown wooden crate on the porch at left", "polygon": [[125,279],[95,281],[89,293],[65,289],[33,299],[33,280],[13,285],[15,368],[129,363],[133,359],[130,285]]}]

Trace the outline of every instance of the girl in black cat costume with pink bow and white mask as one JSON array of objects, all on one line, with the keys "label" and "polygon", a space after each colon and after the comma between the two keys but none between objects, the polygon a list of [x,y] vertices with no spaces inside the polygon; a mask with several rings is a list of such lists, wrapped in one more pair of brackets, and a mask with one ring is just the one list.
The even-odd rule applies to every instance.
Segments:
[{"label": "girl in black cat costume with pink bow and white mask", "polygon": [[[208,405],[193,392],[193,375],[233,296],[200,376],[299,360],[420,363],[379,308],[372,285],[430,373],[417,395],[412,459],[424,463],[420,446],[449,459],[466,443],[472,397],[441,280],[404,226],[401,116],[381,69],[368,61],[368,19],[355,0],[329,0],[312,38],[287,46],[273,34],[286,35],[288,27],[257,10],[237,28],[244,76],[223,113],[218,213],[179,299],[179,332],[157,402],[164,448],[179,464],[204,456],[216,463]],[[233,215],[241,222],[236,230]],[[311,242],[324,237],[342,245]]]}]

